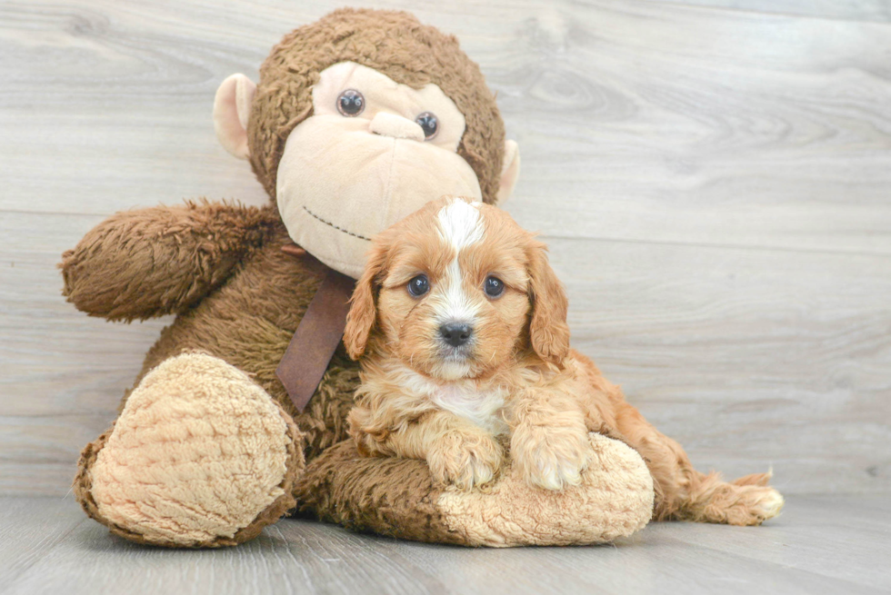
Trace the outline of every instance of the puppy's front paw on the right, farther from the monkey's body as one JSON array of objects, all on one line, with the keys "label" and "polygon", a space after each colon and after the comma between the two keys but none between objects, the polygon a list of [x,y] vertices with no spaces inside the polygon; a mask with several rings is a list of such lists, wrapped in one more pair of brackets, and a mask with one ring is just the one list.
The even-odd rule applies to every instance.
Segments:
[{"label": "puppy's front paw on the right, farther from the monkey's body", "polygon": [[580,484],[591,454],[584,427],[518,428],[511,439],[514,464],[530,485],[546,490]]}]

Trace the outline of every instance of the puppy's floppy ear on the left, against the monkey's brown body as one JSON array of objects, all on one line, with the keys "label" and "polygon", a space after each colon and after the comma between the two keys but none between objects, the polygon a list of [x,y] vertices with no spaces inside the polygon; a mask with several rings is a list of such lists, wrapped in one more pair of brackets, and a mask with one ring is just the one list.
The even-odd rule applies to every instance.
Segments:
[{"label": "puppy's floppy ear on the left, against the monkey's brown body", "polygon": [[375,238],[368,251],[365,271],[355,283],[353,297],[350,298],[350,311],[346,314],[344,345],[346,352],[354,360],[365,353],[368,336],[377,320],[377,283],[384,273],[388,243],[383,237]]}]

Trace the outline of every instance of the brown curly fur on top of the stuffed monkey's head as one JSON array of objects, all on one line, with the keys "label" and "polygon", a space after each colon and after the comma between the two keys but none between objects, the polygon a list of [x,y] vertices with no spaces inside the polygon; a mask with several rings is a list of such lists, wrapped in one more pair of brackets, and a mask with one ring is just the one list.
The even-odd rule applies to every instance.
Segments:
[{"label": "brown curly fur on top of the stuffed monkey's head", "polygon": [[505,126],[483,74],[454,35],[421,25],[402,12],[344,8],[285,35],[260,68],[247,125],[250,159],[266,192],[285,140],[312,115],[312,86],[328,66],[349,60],[374,68],[396,83],[419,89],[433,83],[466,119],[458,154],[476,172],[486,203],[494,203],[505,151]]}]

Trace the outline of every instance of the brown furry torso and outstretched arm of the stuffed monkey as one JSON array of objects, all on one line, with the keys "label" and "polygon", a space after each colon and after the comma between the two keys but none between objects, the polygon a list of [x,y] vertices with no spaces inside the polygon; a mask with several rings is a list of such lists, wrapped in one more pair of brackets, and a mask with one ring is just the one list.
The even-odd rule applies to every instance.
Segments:
[{"label": "brown furry torso and outstretched arm of the stuffed monkey", "polygon": [[[157,364],[181,352],[200,350],[215,355],[250,374],[294,417],[306,434],[306,455],[311,458],[345,438],[345,415],[352,406],[358,366],[340,347],[302,413],[295,410],[275,368],[325,268],[311,256],[297,259],[282,252],[282,246],[291,241],[275,207],[229,206],[225,217],[219,216],[220,211],[219,204],[192,203],[118,213],[88,233],[74,251],[65,253],[65,295],[78,309],[109,318],[130,320],[182,312],[146,355],[135,384]],[[121,241],[120,218],[124,214],[129,215],[126,242]],[[166,223],[176,218],[184,224]],[[188,220],[203,225],[195,230],[185,223]],[[241,255],[241,261],[233,264],[223,257],[225,252],[214,250],[211,239],[235,235],[233,228],[239,225],[244,231],[243,242],[227,244],[228,253]],[[121,264],[131,260],[145,263],[145,268]],[[153,268],[155,262],[165,263],[165,267]],[[229,276],[222,287],[193,303],[198,290],[188,281],[199,262],[204,263],[202,271],[207,278],[223,270]],[[168,273],[167,283],[160,283],[162,273]],[[170,297],[170,286],[190,287],[191,291],[180,292],[186,299],[177,302]],[[139,299],[119,300],[109,287],[125,288],[123,291]],[[200,287],[207,292],[213,285]],[[155,309],[145,304],[155,305]],[[125,402],[126,398],[121,409]]]}]

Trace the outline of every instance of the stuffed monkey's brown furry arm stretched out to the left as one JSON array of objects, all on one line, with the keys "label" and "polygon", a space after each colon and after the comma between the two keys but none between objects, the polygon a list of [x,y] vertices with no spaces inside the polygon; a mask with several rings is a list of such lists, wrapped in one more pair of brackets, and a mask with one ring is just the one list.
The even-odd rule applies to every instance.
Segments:
[{"label": "stuffed monkey's brown furry arm stretched out to the left", "polygon": [[181,312],[222,284],[277,221],[273,207],[206,201],[115,213],[62,255],[63,295],[112,321]]}]

